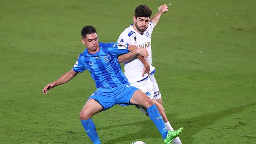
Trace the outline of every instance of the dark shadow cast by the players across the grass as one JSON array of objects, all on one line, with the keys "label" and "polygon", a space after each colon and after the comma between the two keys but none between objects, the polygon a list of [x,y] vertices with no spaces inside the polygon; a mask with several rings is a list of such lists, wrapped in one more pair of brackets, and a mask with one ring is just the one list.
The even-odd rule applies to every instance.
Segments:
[{"label": "dark shadow cast by the players across the grass", "polygon": [[[249,105],[245,105],[242,107],[236,107],[236,108],[228,109],[225,111],[220,111],[217,113],[203,114],[200,116],[195,116],[195,117],[187,118],[187,119],[176,119],[175,117],[172,117],[171,119],[173,122],[171,122],[171,123],[173,123],[174,127],[175,127],[175,123],[179,123],[179,126],[184,127],[184,132],[182,133],[182,135],[186,135],[186,138],[189,138],[189,141],[193,142],[193,139],[194,139],[193,135],[195,133],[197,133],[198,131],[200,131],[201,129],[204,129],[207,126],[210,126],[215,121],[217,121],[225,116],[239,113],[239,112],[243,111],[245,108],[250,107],[252,105],[256,105],[256,103],[251,103]],[[170,115],[170,114],[167,114],[167,115]],[[114,126],[100,127],[99,130],[100,129],[110,129],[113,127],[124,127],[124,126],[130,126],[130,125],[141,127],[141,129],[135,133],[127,134],[122,137],[114,136],[112,140],[108,140],[103,143],[104,144],[115,144],[117,142],[128,141],[131,138],[134,140],[141,140],[143,138],[148,138],[148,137],[159,138],[160,143],[161,143],[161,135],[157,132],[156,127],[153,125],[153,123],[150,119],[144,120],[144,121],[132,122],[132,123],[128,123],[128,124],[126,123],[126,124],[120,124],[120,125],[114,125]],[[152,132],[153,134],[149,135],[148,134],[149,130],[155,131],[155,133]]]}]

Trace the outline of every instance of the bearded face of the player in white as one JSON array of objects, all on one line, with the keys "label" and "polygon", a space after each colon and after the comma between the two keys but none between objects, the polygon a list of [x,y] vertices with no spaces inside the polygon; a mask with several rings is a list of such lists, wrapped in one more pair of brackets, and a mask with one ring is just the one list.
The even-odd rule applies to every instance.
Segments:
[{"label": "bearded face of the player in white", "polygon": [[142,33],[145,30],[147,30],[149,20],[150,20],[149,17],[137,17],[137,18],[135,18],[135,16],[134,16],[134,25],[135,25],[135,28],[137,29],[137,31],[139,33]]}]

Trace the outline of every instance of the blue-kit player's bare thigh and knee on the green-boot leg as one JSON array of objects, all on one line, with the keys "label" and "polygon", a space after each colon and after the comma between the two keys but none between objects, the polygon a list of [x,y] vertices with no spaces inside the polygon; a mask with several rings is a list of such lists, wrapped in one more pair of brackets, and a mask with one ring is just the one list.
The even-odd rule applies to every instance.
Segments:
[{"label": "blue-kit player's bare thigh and knee on the green-boot leg", "polygon": [[130,99],[130,103],[135,105],[142,105],[143,107],[150,107],[153,105],[152,100],[141,90],[136,90]]}]

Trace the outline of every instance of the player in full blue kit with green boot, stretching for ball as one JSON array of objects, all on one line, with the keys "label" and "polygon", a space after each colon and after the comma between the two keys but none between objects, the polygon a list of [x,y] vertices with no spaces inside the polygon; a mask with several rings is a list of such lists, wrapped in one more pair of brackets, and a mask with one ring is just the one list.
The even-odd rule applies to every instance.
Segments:
[{"label": "player in full blue kit with green boot, stretching for ball", "polygon": [[97,32],[93,26],[85,26],[81,34],[82,44],[85,44],[86,49],[79,55],[75,65],[69,72],[66,72],[59,79],[45,86],[43,94],[47,94],[47,90],[67,83],[79,72],[89,70],[97,90],[89,96],[85,103],[80,112],[80,120],[85,133],[93,144],[101,144],[101,142],[91,117],[116,104],[122,106],[143,105],[147,109],[150,119],[160,132],[165,144],[170,144],[174,138],[182,133],[183,128],[176,131],[166,130],[163,118],[159,114],[156,105],[145,93],[130,85],[122,73],[117,59],[119,55],[128,52],[134,54],[134,56],[139,54],[147,57],[147,50],[130,44],[98,42]]}]

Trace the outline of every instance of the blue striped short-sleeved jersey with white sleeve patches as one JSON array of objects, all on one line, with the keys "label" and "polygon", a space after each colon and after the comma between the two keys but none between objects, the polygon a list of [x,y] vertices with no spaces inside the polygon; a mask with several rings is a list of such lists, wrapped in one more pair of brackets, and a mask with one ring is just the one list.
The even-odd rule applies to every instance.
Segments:
[{"label": "blue striped short-sleeved jersey with white sleeve patches", "polygon": [[113,88],[128,83],[117,57],[128,53],[128,44],[101,43],[100,50],[89,54],[87,48],[80,54],[73,67],[75,72],[89,70],[96,88]]}]

